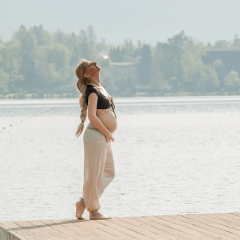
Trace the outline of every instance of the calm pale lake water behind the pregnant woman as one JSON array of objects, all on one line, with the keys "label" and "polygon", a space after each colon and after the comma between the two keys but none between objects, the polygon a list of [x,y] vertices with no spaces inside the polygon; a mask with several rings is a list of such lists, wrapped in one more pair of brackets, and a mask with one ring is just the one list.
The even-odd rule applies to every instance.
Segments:
[{"label": "calm pale lake water behind the pregnant woman", "polygon": [[[116,178],[104,214],[240,212],[240,97],[114,102]],[[0,101],[0,221],[75,217],[79,113],[78,99]]]}]

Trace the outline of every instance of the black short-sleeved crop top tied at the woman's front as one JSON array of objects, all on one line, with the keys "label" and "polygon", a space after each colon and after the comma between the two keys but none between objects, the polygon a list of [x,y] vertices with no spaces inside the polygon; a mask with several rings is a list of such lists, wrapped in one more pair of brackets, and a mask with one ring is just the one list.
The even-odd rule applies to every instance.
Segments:
[{"label": "black short-sleeved crop top tied at the woman's front", "polygon": [[109,99],[106,99],[105,96],[99,91],[97,91],[97,89],[93,86],[88,84],[87,88],[86,88],[86,92],[85,92],[85,102],[88,106],[88,97],[89,95],[94,92],[97,94],[98,96],[98,101],[97,101],[97,109],[108,109],[108,108],[112,108],[113,109],[113,98],[111,97],[111,102]]}]

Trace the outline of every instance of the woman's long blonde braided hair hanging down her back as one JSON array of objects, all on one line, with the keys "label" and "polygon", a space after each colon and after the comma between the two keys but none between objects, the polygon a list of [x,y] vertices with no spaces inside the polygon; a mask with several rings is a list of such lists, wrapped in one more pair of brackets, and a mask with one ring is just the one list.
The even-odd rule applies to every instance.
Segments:
[{"label": "woman's long blonde braided hair hanging down her back", "polygon": [[86,120],[86,117],[87,117],[87,104],[85,102],[85,91],[86,91],[87,84],[90,83],[90,80],[84,76],[84,74],[87,72],[84,64],[85,64],[85,59],[77,65],[75,70],[76,76],[78,78],[77,89],[79,90],[79,92],[81,92],[81,96],[79,98],[79,105],[81,108],[81,113],[80,113],[81,123],[78,125],[77,131],[75,134],[76,137],[79,137],[81,135],[84,128],[84,121]]}]

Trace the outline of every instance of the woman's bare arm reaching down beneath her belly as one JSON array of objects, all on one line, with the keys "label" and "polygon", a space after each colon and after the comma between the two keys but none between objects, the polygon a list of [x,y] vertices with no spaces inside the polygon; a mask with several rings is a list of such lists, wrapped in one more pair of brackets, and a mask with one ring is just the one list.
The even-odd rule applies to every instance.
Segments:
[{"label": "woman's bare arm reaching down beneath her belly", "polygon": [[91,93],[88,97],[88,119],[89,121],[105,136],[110,136],[112,133],[102,124],[100,119],[97,117],[97,100],[98,96],[96,93]]}]

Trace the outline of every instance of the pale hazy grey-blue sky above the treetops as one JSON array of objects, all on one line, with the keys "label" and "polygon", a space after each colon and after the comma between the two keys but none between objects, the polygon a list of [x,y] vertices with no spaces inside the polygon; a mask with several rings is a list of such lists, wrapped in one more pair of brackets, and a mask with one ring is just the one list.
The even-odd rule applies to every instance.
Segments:
[{"label": "pale hazy grey-blue sky above the treetops", "polygon": [[185,31],[204,43],[240,37],[240,0],[0,0],[0,36],[21,24],[79,33],[92,25],[98,40],[155,44]]}]

